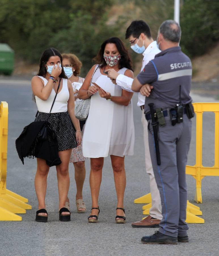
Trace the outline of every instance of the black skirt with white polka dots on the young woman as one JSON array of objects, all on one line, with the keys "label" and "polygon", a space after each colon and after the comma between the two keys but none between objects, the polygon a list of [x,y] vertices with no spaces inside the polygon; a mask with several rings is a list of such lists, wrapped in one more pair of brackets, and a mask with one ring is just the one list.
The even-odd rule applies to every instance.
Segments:
[{"label": "black skirt with white polka dots on the young woman", "polygon": [[[49,116],[49,119],[47,120]],[[36,121],[48,121],[58,140],[58,151],[76,148],[75,130],[72,127],[68,112],[44,113],[39,112]]]}]

